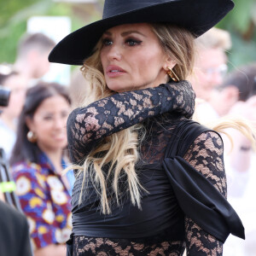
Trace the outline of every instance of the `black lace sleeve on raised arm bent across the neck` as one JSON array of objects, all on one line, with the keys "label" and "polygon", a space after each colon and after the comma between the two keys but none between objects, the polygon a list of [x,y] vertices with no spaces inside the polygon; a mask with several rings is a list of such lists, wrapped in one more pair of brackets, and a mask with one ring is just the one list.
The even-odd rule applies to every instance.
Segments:
[{"label": "black lace sleeve on raised arm bent across the neck", "polygon": [[148,117],[177,112],[190,118],[195,93],[187,81],[117,93],[75,109],[67,120],[67,140],[75,162],[89,154],[104,137],[136,125]]}]

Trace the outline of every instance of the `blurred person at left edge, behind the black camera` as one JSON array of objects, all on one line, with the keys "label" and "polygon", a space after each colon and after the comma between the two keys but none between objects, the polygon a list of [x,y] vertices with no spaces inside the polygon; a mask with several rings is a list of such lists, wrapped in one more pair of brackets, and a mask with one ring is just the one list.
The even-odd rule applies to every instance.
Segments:
[{"label": "blurred person at left edge, behind the black camera", "polygon": [[0,148],[4,149],[9,160],[15,144],[17,119],[24,104],[28,80],[20,73],[14,71],[1,73],[0,70],[0,84],[11,91],[9,105],[2,107],[3,112],[0,114]]}]

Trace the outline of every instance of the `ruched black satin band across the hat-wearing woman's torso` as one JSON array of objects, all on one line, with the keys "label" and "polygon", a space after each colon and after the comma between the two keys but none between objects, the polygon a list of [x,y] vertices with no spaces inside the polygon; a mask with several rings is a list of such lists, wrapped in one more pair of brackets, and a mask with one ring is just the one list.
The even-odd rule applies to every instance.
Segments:
[{"label": "ruched black satin band across the hat-wearing woman's torso", "polygon": [[[74,210],[76,207],[73,208],[75,236],[141,238],[155,236],[172,227],[167,236],[175,240],[183,238],[183,212],[178,207],[163,167],[157,164],[144,165],[137,171],[143,188],[148,191],[141,192],[142,210],[133,206],[128,193],[124,193],[121,207],[112,205],[112,213],[102,216],[96,191],[90,183],[86,189],[90,196],[84,196],[83,207],[77,206],[77,211]],[[77,183],[81,183],[80,179],[83,177],[80,176]]]}]

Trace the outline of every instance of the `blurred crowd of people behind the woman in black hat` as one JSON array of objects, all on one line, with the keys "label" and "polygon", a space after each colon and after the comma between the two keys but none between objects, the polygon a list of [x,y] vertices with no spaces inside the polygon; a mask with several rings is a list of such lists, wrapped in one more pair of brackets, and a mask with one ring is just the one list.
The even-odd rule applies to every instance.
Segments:
[{"label": "blurred crowd of people behind the woman in black hat", "polygon": [[[255,34],[255,25],[253,28],[251,33]],[[218,28],[196,39],[197,56],[189,81],[196,93],[194,119],[201,124],[210,125],[231,116],[247,119],[256,126],[256,57],[248,61],[241,58],[234,65],[229,59],[233,44],[237,44],[236,38]],[[72,171],[63,175],[69,164],[66,122],[71,110],[83,100],[87,84],[79,68],[73,68],[67,84],[45,81],[50,67],[48,55],[54,46],[55,41],[44,33],[25,33],[16,45],[15,61],[0,65],[0,84],[11,90],[8,107],[1,107],[0,148],[4,149],[3,162],[9,166],[15,195],[26,216],[13,207],[6,208],[0,201],[0,230],[10,222],[9,218],[19,219],[22,225],[20,229],[18,224],[4,226],[11,231],[3,239],[11,242],[10,237],[20,236],[22,244],[17,254],[8,255],[65,255],[64,243],[72,230],[70,201],[74,177]],[[234,56],[231,58],[235,60]],[[230,68],[230,62],[235,67]],[[255,255],[255,148],[236,129],[228,129],[226,134],[223,138],[228,200],[240,215],[247,238],[242,241],[230,236],[224,244],[224,255]],[[9,216],[4,221],[3,212]],[[1,251],[2,243],[1,239],[0,254],[7,255]]]}]

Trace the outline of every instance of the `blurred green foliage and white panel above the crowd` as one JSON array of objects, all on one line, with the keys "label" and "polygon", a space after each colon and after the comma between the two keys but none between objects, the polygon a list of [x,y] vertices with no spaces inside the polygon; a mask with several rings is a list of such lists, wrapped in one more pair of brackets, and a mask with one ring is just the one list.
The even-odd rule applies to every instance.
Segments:
[{"label": "blurred green foliage and white panel above the crowd", "polygon": [[[234,2],[236,8],[218,23],[219,28],[231,33],[229,71],[256,60],[256,1]],[[25,32],[44,32],[57,42],[69,32],[101,19],[103,3],[103,0],[0,0],[0,63],[14,63],[17,44]],[[70,67],[56,65],[51,69],[58,71],[51,71],[45,79],[59,76],[57,82],[68,84]]]}]

